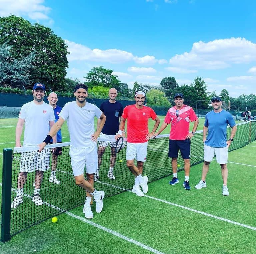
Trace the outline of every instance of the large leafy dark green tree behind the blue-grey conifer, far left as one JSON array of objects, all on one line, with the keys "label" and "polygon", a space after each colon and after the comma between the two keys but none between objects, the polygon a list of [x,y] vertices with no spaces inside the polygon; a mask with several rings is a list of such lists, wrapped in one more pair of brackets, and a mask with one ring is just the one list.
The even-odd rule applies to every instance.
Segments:
[{"label": "large leafy dark green tree behind the blue-grey conifer, far left", "polygon": [[32,25],[14,15],[0,17],[0,44],[5,41],[13,45],[11,54],[17,60],[36,51],[34,68],[29,73],[32,82],[42,82],[51,88],[65,85],[68,46],[49,27],[37,23]]}]

